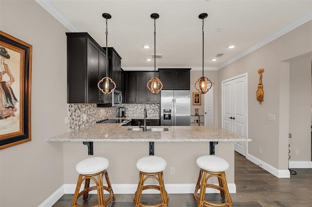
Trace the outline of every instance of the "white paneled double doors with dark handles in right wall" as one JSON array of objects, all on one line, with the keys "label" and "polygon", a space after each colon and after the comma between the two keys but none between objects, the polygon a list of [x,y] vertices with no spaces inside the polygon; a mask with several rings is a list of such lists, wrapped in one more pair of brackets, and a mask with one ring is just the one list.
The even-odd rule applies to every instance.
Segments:
[{"label": "white paneled double doors with dark handles in right wall", "polygon": [[[247,137],[247,77],[239,77],[222,84],[222,127]],[[235,151],[246,156],[247,143],[235,142]]]}]

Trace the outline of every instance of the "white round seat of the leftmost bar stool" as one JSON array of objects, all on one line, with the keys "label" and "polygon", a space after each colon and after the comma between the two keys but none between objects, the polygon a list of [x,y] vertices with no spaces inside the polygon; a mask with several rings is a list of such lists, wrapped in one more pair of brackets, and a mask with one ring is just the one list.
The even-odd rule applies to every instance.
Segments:
[{"label": "white round seat of the leftmost bar stool", "polygon": [[79,174],[94,174],[106,170],[109,161],[105,157],[91,157],[84,159],[76,165],[76,171]]}]

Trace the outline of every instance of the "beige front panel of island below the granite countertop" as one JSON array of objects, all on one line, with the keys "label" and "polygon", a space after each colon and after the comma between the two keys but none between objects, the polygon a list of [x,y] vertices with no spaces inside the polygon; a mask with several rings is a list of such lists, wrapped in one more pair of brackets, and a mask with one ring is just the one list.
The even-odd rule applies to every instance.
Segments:
[{"label": "beige front panel of island below the granite countertop", "polygon": [[[125,127],[125,130],[127,127]],[[64,183],[77,183],[76,164],[89,158],[87,146],[77,142],[64,143]],[[148,142],[95,142],[94,156],[109,159],[108,173],[112,184],[137,184],[137,160],[148,156]],[[219,142],[215,146],[216,155],[226,159],[230,168],[226,171],[228,183],[234,183],[234,143]],[[224,153],[229,152],[229,153]],[[208,142],[155,142],[155,155],[167,161],[164,179],[167,184],[195,184],[199,168],[196,159],[209,155]],[[175,167],[175,175],[170,175],[170,167]]]}]

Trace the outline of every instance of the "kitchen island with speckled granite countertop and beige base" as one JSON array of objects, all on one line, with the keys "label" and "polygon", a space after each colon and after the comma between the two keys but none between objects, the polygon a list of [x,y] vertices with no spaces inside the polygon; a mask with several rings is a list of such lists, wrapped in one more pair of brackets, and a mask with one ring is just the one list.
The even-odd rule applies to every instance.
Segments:
[{"label": "kitchen island with speckled granite countertop and beige base", "polygon": [[[236,192],[234,184],[234,142],[251,141],[227,130],[214,126],[148,126],[147,128],[168,128],[162,132],[130,131],[137,126],[120,126],[118,123],[96,123],[53,138],[48,143],[56,149],[62,147],[64,153],[64,182],[69,186],[66,193],[74,193],[77,182],[76,164],[88,158],[86,146],[94,144],[94,155],[109,159],[109,173],[113,188],[117,193],[134,193],[137,188],[136,162],[142,157],[162,156],[167,161],[164,171],[168,193],[193,193],[198,177],[197,157],[211,154],[215,145],[215,155],[227,160],[230,168],[226,171],[230,193]],[[61,145],[56,143],[62,143]],[[151,145],[153,144],[153,145]],[[149,151],[147,151],[149,150]],[[93,152],[92,152],[93,153]],[[153,152],[154,153],[154,152]],[[175,169],[172,174],[171,169]],[[122,169],[127,169],[124,173]],[[213,180],[216,182],[217,180]]]}]

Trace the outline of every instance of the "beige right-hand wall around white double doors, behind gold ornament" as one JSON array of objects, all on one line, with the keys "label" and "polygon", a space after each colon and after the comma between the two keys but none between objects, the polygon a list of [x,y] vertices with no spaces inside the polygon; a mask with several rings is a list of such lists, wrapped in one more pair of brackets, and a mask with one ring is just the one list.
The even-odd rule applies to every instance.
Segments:
[{"label": "beige right-hand wall around white double doors, behind gold ornament", "polygon": [[[285,63],[281,62],[311,52],[311,36],[312,21],[309,21],[218,70],[219,87],[221,87],[221,82],[225,79],[248,73],[248,137],[253,139],[249,143],[248,153],[277,169],[287,169],[288,163],[288,137],[280,133],[279,120],[280,108],[283,106],[283,103],[280,103],[279,80],[280,73],[283,72],[285,67]],[[255,97],[259,82],[259,74],[257,73],[259,68],[265,69],[263,73],[265,95],[264,102],[261,105],[256,101]],[[285,81],[289,82],[289,80]],[[219,103],[221,105],[221,90],[219,90]],[[285,113],[288,113],[288,111]],[[218,114],[219,126],[221,126],[221,110],[219,110]],[[275,114],[275,121],[269,121],[268,114]],[[258,148],[262,149],[261,155],[258,154]]]}]

